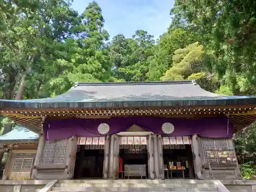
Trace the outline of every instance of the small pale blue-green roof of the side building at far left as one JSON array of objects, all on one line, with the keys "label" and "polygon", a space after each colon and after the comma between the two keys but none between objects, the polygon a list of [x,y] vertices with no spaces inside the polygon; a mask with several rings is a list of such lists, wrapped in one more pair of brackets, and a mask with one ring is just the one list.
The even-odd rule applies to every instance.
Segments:
[{"label": "small pale blue-green roof of the side building at far left", "polygon": [[11,132],[0,136],[0,142],[33,142],[38,140],[38,134],[29,131],[24,126],[15,126]]}]

